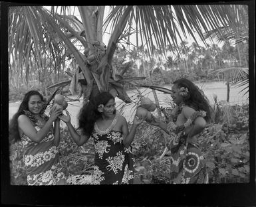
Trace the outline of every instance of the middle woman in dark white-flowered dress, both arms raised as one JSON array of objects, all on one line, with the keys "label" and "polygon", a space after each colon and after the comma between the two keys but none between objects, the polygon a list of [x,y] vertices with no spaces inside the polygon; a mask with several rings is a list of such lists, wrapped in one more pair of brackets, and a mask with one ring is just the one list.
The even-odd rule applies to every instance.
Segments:
[{"label": "middle woman in dark white-flowered dress, both arms raised", "polygon": [[134,160],[130,144],[142,119],[134,117],[130,132],[126,119],[115,108],[114,97],[102,92],[85,104],[78,117],[80,135],[70,123],[70,115],[61,115],[72,139],[83,145],[92,137],[95,144],[92,184],[130,184],[133,181]]}]

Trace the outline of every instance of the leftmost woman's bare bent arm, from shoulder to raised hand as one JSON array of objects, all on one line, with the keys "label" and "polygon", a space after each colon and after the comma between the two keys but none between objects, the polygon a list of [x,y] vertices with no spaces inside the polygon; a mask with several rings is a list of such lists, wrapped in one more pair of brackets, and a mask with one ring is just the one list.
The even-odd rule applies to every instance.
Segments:
[{"label": "leftmost woman's bare bent arm, from shoulder to raised hand", "polygon": [[58,109],[58,110],[54,109],[48,121],[45,123],[43,128],[40,129],[39,131],[35,129],[29,117],[27,117],[27,115],[22,114],[18,117],[19,129],[21,129],[21,131],[23,131],[23,133],[25,133],[25,135],[27,135],[29,139],[31,139],[35,143],[39,143],[47,135],[47,133],[49,132],[53,124],[53,121],[55,121],[55,119],[57,119],[58,115],[60,115],[61,113],[62,113],[61,109]]}]

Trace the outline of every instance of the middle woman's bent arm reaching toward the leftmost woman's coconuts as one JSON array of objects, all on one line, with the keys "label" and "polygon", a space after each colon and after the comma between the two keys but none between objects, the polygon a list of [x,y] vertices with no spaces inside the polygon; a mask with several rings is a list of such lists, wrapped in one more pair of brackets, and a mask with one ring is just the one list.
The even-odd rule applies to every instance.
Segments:
[{"label": "middle woman's bent arm reaching toward the leftmost woman's coconuts", "polygon": [[66,126],[68,127],[68,131],[70,132],[70,135],[74,140],[74,142],[76,143],[76,145],[78,146],[83,145],[90,138],[90,136],[79,135],[77,133],[76,129],[74,129],[73,125],[70,123],[70,115],[67,110],[66,110],[66,115],[64,114],[59,115],[59,118],[66,123]]}]

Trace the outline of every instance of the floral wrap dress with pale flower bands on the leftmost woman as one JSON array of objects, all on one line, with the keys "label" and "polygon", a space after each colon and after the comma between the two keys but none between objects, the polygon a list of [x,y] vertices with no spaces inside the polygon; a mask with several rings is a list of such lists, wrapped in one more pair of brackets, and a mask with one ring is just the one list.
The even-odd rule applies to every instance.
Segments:
[{"label": "floral wrap dress with pale flower bands on the leftmost woman", "polygon": [[[29,111],[25,111],[25,115],[31,119],[37,131],[43,127],[43,124],[33,117]],[[45,120],[48,119],[47,115],[41,116]],[[58,163],[59,151],[53,143],[54,139],[53,127],[40,143],[35,143],[24,133],[21,135],[28,185],[64,184],[64,173]]]}]

